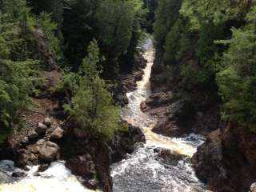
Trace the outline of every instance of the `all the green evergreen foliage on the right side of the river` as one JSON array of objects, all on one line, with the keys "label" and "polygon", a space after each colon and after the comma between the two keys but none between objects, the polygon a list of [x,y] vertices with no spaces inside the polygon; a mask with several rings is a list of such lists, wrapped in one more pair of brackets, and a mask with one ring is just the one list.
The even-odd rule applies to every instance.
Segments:
[{"label": "all the green evergreen foliage on the right side of the river", "polygon": [[180,3],[160,1],[155,17],[156,46],[169,78],[185,82],[184,90],[196,86],[215,95],[218,89],[223,118],[256,131],[255,2]]}]

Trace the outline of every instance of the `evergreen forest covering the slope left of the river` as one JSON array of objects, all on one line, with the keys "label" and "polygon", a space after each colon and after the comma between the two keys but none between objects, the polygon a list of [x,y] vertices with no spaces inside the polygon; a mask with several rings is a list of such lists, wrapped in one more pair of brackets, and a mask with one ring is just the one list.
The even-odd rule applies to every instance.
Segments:
[{"label": "evergreen forest covering the slope left of the river", "polygon": [[[56,89],[70,92],[72,109],[66,108],[78,119],[89,115],[88,122],[81,123],[90,126],[99,123],[96,116],[113,114],[102,121],[110,123],[105,134],[113,134],[118,107],[112,102],[110,85],[102,79],[114,85],[120,68],[131,67],[129,62],[142,36],[142,26],[146,26],[142,2],[11,0],[1,1],[0,7],[1,138],[14,125],[22,126],[22,111],[33,104],[30,96],[37,94],[38,84],[42,83],[38,70],[47,68],[48,63],[33,52],[37,33],[44,35],[50,54],[64,73]],[[81,101],[83,96],[89,97],[88,103]],[[92,101],[97,97],[103,98],[102,104],[99,100]],[[78,111],[81,107],[86,110]],[[104,131],[100,125],[96,126],[99,126],[97,131]]]}]

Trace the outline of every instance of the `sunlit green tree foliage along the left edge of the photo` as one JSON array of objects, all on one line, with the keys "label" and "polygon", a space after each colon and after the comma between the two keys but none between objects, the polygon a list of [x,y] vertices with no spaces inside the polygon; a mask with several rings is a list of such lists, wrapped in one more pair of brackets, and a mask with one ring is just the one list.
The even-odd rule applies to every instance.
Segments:
[{"label": "sunlit green tree foliage along the left edge of the photo", "polygon": [[20,12],[26,13],[27,9],[24,4],[19,7],[20,12],[14,14],[18,10],[14,4],[10,6],[11,2],[14,3],[3,2],[5,9],[2,7],[0,10],[0,142],[10,134],[13,125],[20,122],[22,111],[30,106],[29,94],[34,91],[37,80],[38,62],[27,58],[26,51],[22,50],[22,20],[14,19],[22,15]]}]

